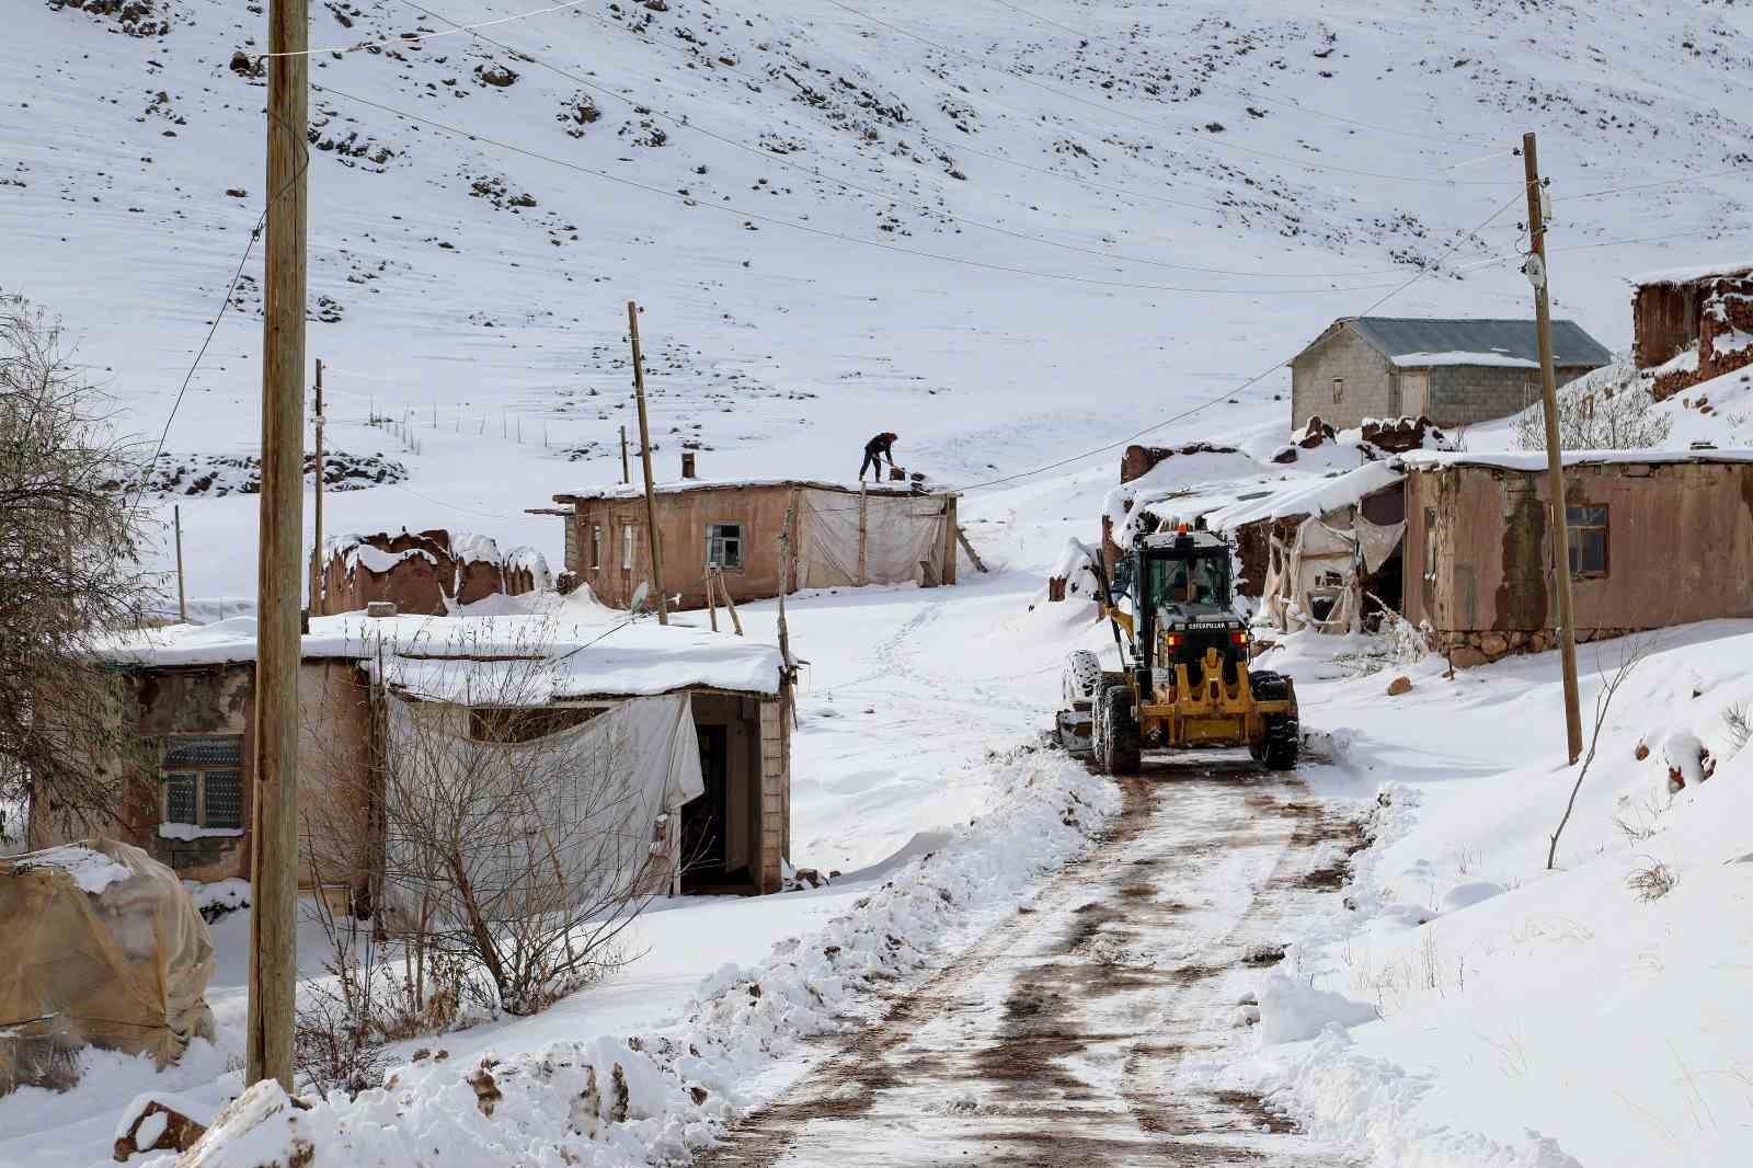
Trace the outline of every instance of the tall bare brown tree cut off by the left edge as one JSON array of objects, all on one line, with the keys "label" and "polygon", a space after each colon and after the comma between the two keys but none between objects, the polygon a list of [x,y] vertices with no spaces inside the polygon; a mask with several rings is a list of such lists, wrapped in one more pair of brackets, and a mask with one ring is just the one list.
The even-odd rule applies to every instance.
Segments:
[{"label": "tall bare brown tree cut off by the left edge", "polygon": [[135,747],[91,649],[156,598],[138,461],[107,410],[60,324],[0,293],[0,801],[75,830],[112,814]]}]

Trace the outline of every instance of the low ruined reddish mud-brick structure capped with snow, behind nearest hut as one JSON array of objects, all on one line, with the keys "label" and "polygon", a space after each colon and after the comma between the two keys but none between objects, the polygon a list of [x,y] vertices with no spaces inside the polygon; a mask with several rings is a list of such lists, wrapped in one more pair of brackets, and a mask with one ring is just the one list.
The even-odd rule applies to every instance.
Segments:
[{"label": "low ruined reddish mud-brick structure capped with snow, behind nearest hut", "polygon": [[337,535],[323,544],[310,600],[316,616],[363,612],[373,600],[393,602],[400,612],[444,616],[498,593],[521,596],[554,584],[542,552],[500,552],[484,535],[403,528],[396,535]]}]

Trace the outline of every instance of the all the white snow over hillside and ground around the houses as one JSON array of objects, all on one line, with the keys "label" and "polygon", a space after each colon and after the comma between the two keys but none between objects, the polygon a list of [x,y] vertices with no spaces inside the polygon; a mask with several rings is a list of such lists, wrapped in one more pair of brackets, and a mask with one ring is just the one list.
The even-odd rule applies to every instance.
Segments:
[{"label": "all the white snow over hillside and ground around the houses", "polygon": [[[112,12],[16,7],[0,282],[67,319],[126,430],[151,444],[170,421],[167,486],[219,472],[228,493],[147,503],[181,502],[191,610],[235,614],[254,595],[258,500],[231,488],[258,433],[259,246],[175,403],[261,214],[265,95],[231,60],[265,47],[263,16],[153,0],[170,30],[140,39]],[[1331,319],[1388,293],[1388,314],[1525,316],[1523,130],[1553,175],[1557,310],[1608,345],[1630,340],[1625,275],[1753,247],[1746,5],[591,0],[482,30],[498,44],[429,35],[538,7],[314,5],[312,44],[342,53],[312,60],[309,351],[330,449],[394,463],[330,495],[328,530],[489,531],[557,565],[559,523],[522,509],[619,477],[636,298],[661,472],[698,442],[708,475],[843,479],[898,430],[912,470],[976,484],[962,516],[994,573],[791,605],[812,661],[792,859],[847,877],[652,914],[615,980],[447,1036],[400,1093],[323,1112],[356,1140],[342,1163],[426,1156],[373,1126],[398,1112],[456,1163],[557,1157],[586,1065],[607,1079],[615,1061],[638,1115],[591,1145],[600,1163],[677,1150],[796,1080],[812,1035],[868,1022],[866,975],[905,989],[1013,921],[1117,803],[1022,751],[1064,649],[1104,640],[1083,605],[1029,609],[1113,486],[1118,447],[1083,454],[1152,428],[1252,456],[1201,477],[1259,475],[1288,375],[1238,386]],[[503,68],[512,84],[486,77]],[[1671,442],[1753,438],[1748,382],[1709,393],[1713,416],[1699,391],[1664,407]],[[1506,445],[1508,426],[1467,440]],[[743,616],[771,637],[770,607]],[[1250,991],[1274,1042],[1189,1073],[1381,1166],[1753,1159],[1753,865],[1723,863],[1753,849],[1749,763],[1727,759],[1721,723],[1753,696],[1749,637],[1678,630],[1639,666],[1553,875],[1543,833],[1569,779],[1550,658],[1453,680],[1427,661],[1387,700],[1387,675],[1332,661],[1343,645],[1281,651],[1331,738],[1306,780],[1341,810],[1381,786],[1388,805],[1355,887],[1285,921],[1290,954]],[[1723,761],[1669,810],[1662,759],[1685,731]],[[1336,880],[1341,859],[1325,854]],[[1679,884],[1643,903],[1625,879],[1653,861]],[[91,1054],[74,1093],[0,1101],[0,1163],[100,1163],[137,1091],[214,1105],[235,1087],[247,917],[217,933],[219,1043],[163,1077]],[[1381,1017],[1320,1031],[1360,1005]],[[463,1084],[489,1052],[515,1070],[498,1124]]]}]

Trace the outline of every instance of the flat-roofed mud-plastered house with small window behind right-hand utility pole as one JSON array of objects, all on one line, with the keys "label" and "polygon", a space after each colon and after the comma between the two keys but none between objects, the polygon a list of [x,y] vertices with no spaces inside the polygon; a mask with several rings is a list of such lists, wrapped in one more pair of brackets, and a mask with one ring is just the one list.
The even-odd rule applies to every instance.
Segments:
[{"label": "flat-roofed mud-plastered house with small window behind right-hand utility pole", "polygon": [[[1553,647],[1544,454],[1415,451],[1404,612],[1455,665]],[[1578,640],[1753,617],[1753,451],[1565,454]]]}]

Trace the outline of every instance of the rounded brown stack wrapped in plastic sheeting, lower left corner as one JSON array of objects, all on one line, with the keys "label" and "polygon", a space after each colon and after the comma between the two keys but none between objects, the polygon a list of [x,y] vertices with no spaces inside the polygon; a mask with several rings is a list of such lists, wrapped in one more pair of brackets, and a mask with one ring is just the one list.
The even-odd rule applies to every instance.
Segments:
[{"label": "rounded brown stack wrapped in plastic sheeting, lower left corner", "polygon": [[207,922],[138,847],[82,840],[0,859],[0,1093],[65,1086],[98,1045],[165,1066],[210,1038]]}]

